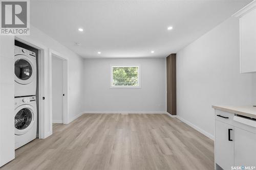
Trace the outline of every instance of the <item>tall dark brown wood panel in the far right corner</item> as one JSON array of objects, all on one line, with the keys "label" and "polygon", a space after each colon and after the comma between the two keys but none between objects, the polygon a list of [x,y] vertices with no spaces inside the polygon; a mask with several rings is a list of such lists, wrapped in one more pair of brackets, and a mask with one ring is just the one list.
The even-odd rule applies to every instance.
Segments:
[{"label": "tall dark brown wood panel in the far right corner", "polygon": [[166,58],[167,112],[176,115],[176,54]]}]

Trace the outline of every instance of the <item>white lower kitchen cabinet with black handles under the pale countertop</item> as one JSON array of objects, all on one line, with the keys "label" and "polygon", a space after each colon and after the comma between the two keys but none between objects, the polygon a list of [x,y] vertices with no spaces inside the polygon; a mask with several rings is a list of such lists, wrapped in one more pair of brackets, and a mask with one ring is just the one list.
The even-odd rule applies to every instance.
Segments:
[{"label": "white lower kitchen cabinet with black handles under the pale countertop", "polygon": [[214,108],[216,170],[256,167],[256,109],[242,107],[247,111],[247,117],[237,114],[241,109]]}]

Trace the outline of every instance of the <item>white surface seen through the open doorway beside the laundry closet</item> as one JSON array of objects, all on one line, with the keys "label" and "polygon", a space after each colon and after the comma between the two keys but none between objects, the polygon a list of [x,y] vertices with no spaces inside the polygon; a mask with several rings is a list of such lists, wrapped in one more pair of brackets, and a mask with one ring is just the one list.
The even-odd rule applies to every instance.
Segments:
[{"label": "white surface seen through the open doorway beside the laundry closet", "polygon": [[63,123],[63,60],[52,56],[52,123]]}]

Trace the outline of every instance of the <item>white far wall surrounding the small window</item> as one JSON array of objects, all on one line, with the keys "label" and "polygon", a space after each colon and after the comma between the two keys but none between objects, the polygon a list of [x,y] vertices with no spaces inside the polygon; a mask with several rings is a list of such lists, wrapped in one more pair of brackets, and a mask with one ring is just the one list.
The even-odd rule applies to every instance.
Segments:
[{"label": "white far wall surrounding the small window", "polygon": [[[86,112],[166,111],[166,62],[161,59],[84,60],[84,107]],[[140,65],[140,89],[111,89],[110,66]]]}]

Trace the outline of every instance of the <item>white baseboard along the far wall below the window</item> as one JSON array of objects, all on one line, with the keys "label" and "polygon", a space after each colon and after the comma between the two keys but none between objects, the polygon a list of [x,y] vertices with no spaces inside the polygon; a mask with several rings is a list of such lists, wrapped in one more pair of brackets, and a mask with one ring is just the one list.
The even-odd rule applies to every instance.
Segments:
[{"label": "white baseboard along the far wall below the window", "polygon": [[165,114],[165,111],[84,111],[84,114]]}]

